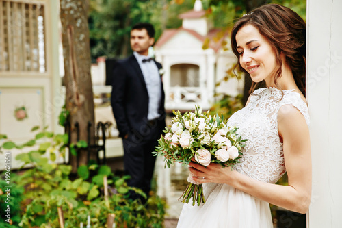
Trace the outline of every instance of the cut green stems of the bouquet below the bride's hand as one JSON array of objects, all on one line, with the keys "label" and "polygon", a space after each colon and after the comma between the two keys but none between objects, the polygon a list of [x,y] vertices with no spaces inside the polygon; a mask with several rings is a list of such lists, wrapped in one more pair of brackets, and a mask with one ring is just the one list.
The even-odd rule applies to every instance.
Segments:
[{"label": "cut green stems of the bouquet below the bride's hand", "polygon": [[195,203],[197,203],[198,206],[200,203],[205,203],[202,183],[189,183],[181,197],[179,197],[179,200],[181,200],[182,203],[189,203],[190,199],[192,199],[193,206]]}]

